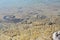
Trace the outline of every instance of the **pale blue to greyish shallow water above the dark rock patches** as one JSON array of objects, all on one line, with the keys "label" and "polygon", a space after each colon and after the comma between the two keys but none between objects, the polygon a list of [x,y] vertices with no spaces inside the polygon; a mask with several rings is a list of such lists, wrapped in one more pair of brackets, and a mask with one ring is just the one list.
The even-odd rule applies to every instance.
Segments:
[{"label": "pale blue to greyish shallow water above the dark rock patches", "polygon": [[29,13],[59,14],[60,0],[0,0],[0,14],[15,15]]}]

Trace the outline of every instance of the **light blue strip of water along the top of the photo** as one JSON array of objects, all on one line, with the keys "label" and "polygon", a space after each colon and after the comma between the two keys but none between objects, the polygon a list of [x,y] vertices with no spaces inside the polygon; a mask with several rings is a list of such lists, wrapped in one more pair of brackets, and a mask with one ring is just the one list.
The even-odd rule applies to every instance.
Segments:
[{"label": "light blue strip of water along the top of the photo", "polygon": [[60,0],[0,0],[0,8],[19,7],[35,4],[55,4],[60,5]]}]

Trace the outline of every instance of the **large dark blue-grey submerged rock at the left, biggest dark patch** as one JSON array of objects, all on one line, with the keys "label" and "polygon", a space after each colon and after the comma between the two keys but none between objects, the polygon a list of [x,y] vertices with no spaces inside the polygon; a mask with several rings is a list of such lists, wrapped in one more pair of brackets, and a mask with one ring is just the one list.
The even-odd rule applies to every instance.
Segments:
[{"label": "large dark blue-grey submerged rock at the left, biggest dark patch", "polygon": [[15,16],[13,16],[13,15],[9,15],[9,16],[4,16],[3,17],[3,19],[4,19],[4,21],[5,22],[8,22],[8,23],[11,23],[11,22],[13,22],[13,23],[19,23],[19,22],[22,22],[24,19],[21,19],[21,18],[15,18]]}]

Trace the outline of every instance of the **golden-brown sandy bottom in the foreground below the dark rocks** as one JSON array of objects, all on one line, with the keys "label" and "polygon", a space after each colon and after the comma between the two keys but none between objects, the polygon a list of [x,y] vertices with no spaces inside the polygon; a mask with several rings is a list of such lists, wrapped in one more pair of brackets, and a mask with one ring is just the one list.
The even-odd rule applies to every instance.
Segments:
[{"label": "golden-brown sandy bottom in the foreground below the dark rocks", "polygon": [[48,25],[43,21],[34,21],[31,24],[4,23],[3,25],[6,29],[0,30],[0,40],[52,40],[52,34],[60,31],[59,23]]}]

